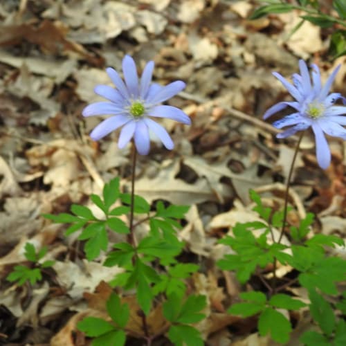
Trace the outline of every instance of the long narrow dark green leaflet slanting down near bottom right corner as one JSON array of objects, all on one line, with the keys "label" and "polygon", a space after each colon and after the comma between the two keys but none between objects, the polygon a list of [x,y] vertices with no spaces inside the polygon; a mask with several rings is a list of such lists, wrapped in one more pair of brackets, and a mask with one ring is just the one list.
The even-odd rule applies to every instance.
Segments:
[{"label": "long narrow dark green leaflet slanting down near bottom right corner", "polygon": [[309,291],[309,298],[311,302],[309,308],[313,320],[318,323],[320,329],[327,336],[331,336],[336,324],[333,308],[315,289]]}]

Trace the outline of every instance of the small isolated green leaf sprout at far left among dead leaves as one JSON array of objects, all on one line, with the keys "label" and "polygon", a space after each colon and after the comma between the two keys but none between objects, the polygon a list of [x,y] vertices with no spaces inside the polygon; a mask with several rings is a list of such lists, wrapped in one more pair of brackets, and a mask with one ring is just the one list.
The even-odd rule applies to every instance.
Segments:
[{"label": "small isolated green leaf sprout at far left among dead leaves", "polygon": [[26,243],[24,256],[30,262],[30,266],[19,265],[15,266],[12,273],[6,277],[9,282],[17,282],[19,286],[30,282],[34,285],[36,282],[42,280],[42,269],[53,266],[55,261],[47,260],[40,263],[40,260],[46,255],[48,248],[42,247],[41,250],[36,252],[35,246],[31,243]]}]

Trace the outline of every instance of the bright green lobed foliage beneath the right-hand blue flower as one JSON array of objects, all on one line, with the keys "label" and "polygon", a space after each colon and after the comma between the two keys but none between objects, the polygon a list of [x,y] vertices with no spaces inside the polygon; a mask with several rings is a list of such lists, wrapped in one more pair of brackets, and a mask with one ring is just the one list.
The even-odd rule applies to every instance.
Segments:
[{"label": "bright green lobed foliage beneath the right-hand blue flower", "polygon": [[[291,322],[278,309],[293,311],[306,304],[293,298],[289,293],[281,293],[286,289],[286,284],[277,287],[277,278],[266,282],[262,271],[268,264],[276,261],[289,264],[297,271],[295,281],[309,291],[309,310],[311,318],[320,327],[318,331],[307,331],[301,340],[306,345],[343,345],[340,340],[345,340],[345,322],[339,319],[336,322],[334,310],[322,294],[338,295],[336,282],[346,280],[346,261],[340,257],[328,256],[327,248],[336,245],[343,246],[343,239],[334,235],[312,235],[313,214],[300,221],[298,227],[291,227],[291,237],[295,244],[284,246],[280,241],[275,241],[272,233],[273,227],[281,226],[282,211],[273,211],[264,207],[256,192],[251,191],[251,199],[256,206],[253,208],[263,221],[236,224],[233,236],[220,239],[219,243],[230,246],[235,254],[225,255],[217,263],[221,269],[235,271],[239,282],[248,282],[253,275],[259,276],[268,288],[268,297],[261,291],[250,291],[240,294],[244,300],[233,304],[228,312],[242,317],[258,315],[258,331],[262,336],[271,334],[278,343],[289,341],[292,330]],[[260,230],[259,235],[254,235],[253,230]],[[272,235],[271,244],[269,244]],[[275,271],[276,265],[273,265]],[[280,292],[280,293],[279,293]],[[319,293],[318,293],[319,292]],[[345,303],[340,303],[343,308]],[[317,343],[318,340],[321,343]],[[323,341],[324,340],[324,341]],[[325,343],[322,343],[325,342]]]}]

